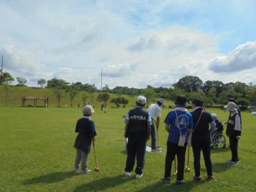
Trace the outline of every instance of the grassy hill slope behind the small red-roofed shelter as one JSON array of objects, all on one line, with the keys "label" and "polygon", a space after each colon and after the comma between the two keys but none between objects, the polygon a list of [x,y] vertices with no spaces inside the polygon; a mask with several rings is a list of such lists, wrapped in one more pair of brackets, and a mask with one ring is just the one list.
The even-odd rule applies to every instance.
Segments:
[{"label": "grassy hill slope behind the small red-roofed shelter", "polygon": [[[86,93],[88,98],[85,102],[94,103],[94,106],[96,108],[100,108],[101,101],[97,101],[98,94],[99,93],[93,93],[89,92],[80,92],[76,95],[76,97],[73,100],[73,107],[77,107],[78,102],[83,104],[82,100],[82,93]],[[4,86],[0,86],[0,107],[5,106],[5,89]],[[21,107],[22,106],[22,97],[46,97],[49,98],[49,107],[58,107],[58,100],[56,96],[54,95],[53,91],[51,89],[47,88],[38,88],[38,87],[27,87],[27,86],[9,86],[9,95],[8,95],[8,105],[9,107]],[[118,97],[119,95],[116,94],[110,94],[110,99],[107,102],[107,107],[116,107],[114,103],[110,103],[111,99]],[[135,101],[137,98],[136,96],[130,96],[130,95],[122,95],[122,97],[129,100],[129,103],[126,105],[126,108],[134,107]],[[150,102],[153,103],[153,102]],[[34,106],[34,100],[27,100],[26,105],[32,105]],[[71,101],[69,97],[69,93],[63,94],[63,98],[60,99],[60,107],[70,107]],[[173,105],[173,101],[165,101],[165,105]],[[37,101],[37,106],[44,106],[44,102],[42,100]],[[122,107],[123,105],[121,105]]]}]

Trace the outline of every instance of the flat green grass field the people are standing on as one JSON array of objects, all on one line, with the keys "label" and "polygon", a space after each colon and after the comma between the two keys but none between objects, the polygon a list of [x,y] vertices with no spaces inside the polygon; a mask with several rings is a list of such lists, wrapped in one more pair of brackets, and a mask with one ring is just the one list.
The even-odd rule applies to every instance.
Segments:
[{"label": "flat green grass field the people are standing on", "polygon": [[[0,107],[0,191],[255,191],[256,117],[242,112],[243,132],[239,141],[240,162],[235,166],[225,163],[231,157],[229,148],[213,149],[212,162],[215,179],[206,181],[204,161],[201,159],[202,182],[193,181],[193,154],[190,149],[190,172],[185,171],[181,186],[160,181],[164,175],[167,132],[163,120],[169,109],[162,110],[159,144],[162,153],[147,153],[143,177],[124,175],[126,161],[124,118],[130,108],[106,108],[103,113],[95,108],[92,116],[98,137],[95,142],[100,172],[73,173],[76,138],[75,124],[82,117],[78,107]],[[228,113],[217,113],[223,122]],[[226,127],[225,127],[226,129]],[[228,138],[226,137],[227,141]],[[148,145],[150,146],[150,142]],[[89,168],[94,169],[93,149]],[[173,170],[172,170],[173,172]]]}]

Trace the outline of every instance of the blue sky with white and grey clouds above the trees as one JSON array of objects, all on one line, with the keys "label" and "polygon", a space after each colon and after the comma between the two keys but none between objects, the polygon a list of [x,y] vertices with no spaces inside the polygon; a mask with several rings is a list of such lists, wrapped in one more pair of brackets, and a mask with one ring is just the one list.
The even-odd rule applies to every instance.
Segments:
[{"label": "blue sky with white and grey clouds above the trees", "polygon": [[[255,81],[256,1],[0,1],[3,70],[145,88]],[[102,70],[101,70],[102,69]],[[102,71],[102,84],[101,84]]]}]

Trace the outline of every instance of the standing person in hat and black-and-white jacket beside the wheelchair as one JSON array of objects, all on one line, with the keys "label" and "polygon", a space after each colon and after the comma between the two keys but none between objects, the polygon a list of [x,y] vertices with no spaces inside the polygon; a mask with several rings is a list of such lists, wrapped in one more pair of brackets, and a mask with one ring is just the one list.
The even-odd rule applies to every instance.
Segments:
[{"label": "standing person in hat and black-and-white jacket beside the wheelchair", "polygon": [[237,146],[238,140],[241,138],[241,117],[234,102],[228,102],[224,108],[226,108],[230,113],[228,121],[225,122],[227,124],[226,134],[227,137],[229,137],[229,145],[231,150],[231,159],[227,162],[227,164],[235,165],[239,163]]}]

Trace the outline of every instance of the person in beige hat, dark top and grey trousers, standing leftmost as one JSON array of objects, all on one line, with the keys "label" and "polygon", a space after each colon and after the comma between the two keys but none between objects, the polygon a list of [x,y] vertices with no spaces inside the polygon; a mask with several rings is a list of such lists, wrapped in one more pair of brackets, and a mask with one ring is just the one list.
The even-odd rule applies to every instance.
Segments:
[{"label": "person in beige hat, dark top and grey trousers, standing leftmost", "polygon": [[87,168],[87,160],[91,151],[92,139],[95,141],[97,132],[95,130],[94,122],[91,119],[94,113],[91,105],[86,105],[82,108],[83,117],[78,119],[76,123],[75,132],[78,133],[75,145],[76,159],[74,172],[79,170],[79,164],[81,162],[81,174],[90,173],[91,170]]}]

